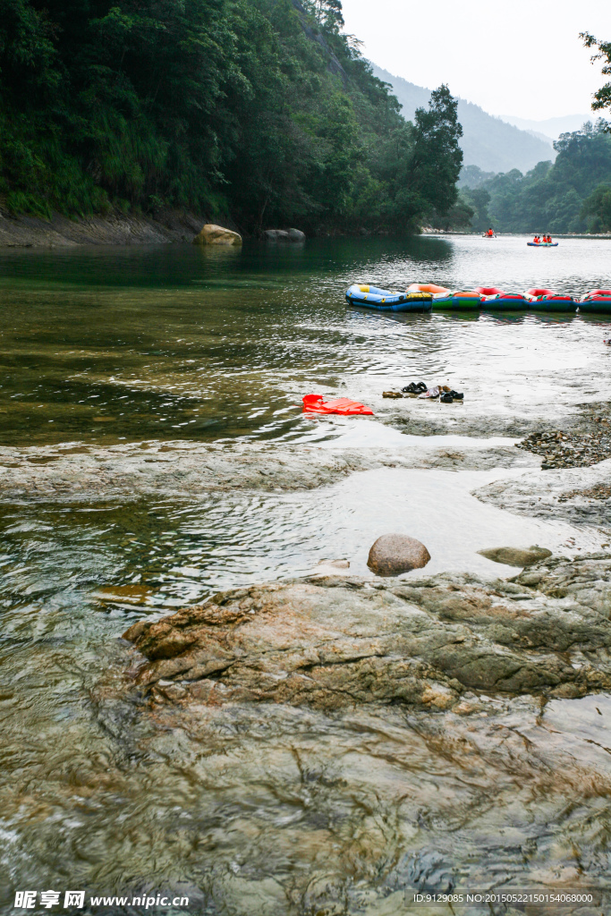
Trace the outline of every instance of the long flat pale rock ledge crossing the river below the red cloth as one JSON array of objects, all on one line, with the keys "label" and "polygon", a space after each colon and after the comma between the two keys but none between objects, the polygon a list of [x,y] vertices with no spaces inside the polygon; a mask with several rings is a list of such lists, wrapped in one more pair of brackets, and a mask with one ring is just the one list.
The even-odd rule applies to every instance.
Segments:
[{"label": "long flat pale rock ledge crossing the river below the red cloth", "polygon": [[487,470],[536,464],[537,459],[517,453],[511,446],[322,449],[256,442],[226,446],[153,441],[104,448],[70,442],[32,448],[0,447],[0,498],[183,498],[210,490],[309,490],[333,484],[355,471],[385,466]]}]

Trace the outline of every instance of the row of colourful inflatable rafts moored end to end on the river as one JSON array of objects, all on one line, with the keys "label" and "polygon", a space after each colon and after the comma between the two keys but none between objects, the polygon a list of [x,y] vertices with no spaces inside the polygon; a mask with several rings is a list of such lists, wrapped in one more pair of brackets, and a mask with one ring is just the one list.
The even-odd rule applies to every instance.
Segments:
[{"label": "row of colourful inflatable rafts moored end to end on the river", "polygon": [[431,311],[522,309],[544,311],[576,311],[611,313],[611,289],[592,289],[580,299],[563,296],[552,289],[527,289],[526,292],[507,292],[496,287],[475,289],[446,289],[434,283],[412,283],[405,292],[379,289],[354,283],[346,290],[346,299],[352,305],[363,305],[378,311]]}]

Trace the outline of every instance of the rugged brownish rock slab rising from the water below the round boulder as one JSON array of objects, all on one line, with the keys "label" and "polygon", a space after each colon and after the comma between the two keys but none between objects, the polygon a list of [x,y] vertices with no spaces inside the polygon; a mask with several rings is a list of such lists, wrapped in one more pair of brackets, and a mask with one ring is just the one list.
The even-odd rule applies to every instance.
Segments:
[{"label": "rugged brownish rock slab rising from the water below the round boulder", "polygon": [[584,696],[611,687],[611,555],[562,562],[515,582],[329,576],[236,589],[140,620],[125,639],[147,660],[137,684],[170,703],[330,711],[446,709],[465,690]]}]

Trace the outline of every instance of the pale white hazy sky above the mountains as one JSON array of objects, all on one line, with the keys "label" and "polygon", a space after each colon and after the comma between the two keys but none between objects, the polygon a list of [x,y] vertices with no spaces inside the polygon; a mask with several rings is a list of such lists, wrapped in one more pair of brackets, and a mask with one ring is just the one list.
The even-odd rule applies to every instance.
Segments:
[{"label": "pale white hazy sky above the mountains", "polygon": [[611,40],[609,0],[344,0],[344,18],[378,66],[490,114],[587,113],[606,82],[578,35]]}]

